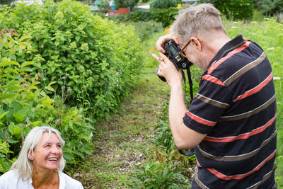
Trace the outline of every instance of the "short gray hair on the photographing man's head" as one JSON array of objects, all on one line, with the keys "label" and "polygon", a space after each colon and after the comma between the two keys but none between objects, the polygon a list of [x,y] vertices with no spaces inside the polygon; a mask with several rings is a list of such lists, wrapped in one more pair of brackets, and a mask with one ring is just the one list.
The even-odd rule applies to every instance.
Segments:
[{"label": "short gray hair on the photographing man's head", "polygon": [[221,23],[220,11],[212,4],[199,4],[180,11],[170,32],[177,34],[180,40],[185,42],[193,34],[211,30],[219,30],[225,33]]}]

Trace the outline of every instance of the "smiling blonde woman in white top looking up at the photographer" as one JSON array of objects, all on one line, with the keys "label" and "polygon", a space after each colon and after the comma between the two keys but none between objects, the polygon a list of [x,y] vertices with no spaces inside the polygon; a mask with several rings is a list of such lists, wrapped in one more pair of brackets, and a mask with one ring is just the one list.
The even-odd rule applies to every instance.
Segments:
[{"label": "smiling blonde woman in white top looking up at the photographer", "polygon": [[34,127],[25,137],[18,160],[0,177],[1,189],[81,189],[79,181],[63,173],[64,140],[52,127]]}]

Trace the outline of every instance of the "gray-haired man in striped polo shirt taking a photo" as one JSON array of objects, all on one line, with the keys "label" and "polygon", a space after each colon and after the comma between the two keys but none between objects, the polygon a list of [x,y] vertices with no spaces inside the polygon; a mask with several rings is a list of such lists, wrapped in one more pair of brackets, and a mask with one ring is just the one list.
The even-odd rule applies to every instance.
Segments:
[{"label": "gray-haired man in striped polo shirt taking a photo", "polygon": [[[204,71],[189,110],[182,74],[163,53],[175,40]],[[158,39],[158,75],[171,89],[169,120],[179,149],[195,148],[192,188],[277,188],[276,99],[263,50],[241,35],[231,40],[211,4],[185,9]]]}]

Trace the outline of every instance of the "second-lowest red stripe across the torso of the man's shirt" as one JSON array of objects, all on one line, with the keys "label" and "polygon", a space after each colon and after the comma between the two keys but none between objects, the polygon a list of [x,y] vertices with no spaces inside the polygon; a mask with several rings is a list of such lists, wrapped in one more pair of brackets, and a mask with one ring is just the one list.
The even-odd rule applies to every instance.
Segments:
[{"label": "second-lowest red stripe across the torso of the man's shirt", "polygon": [[275,116],[271,120],[269,120],[265,125],[258,127],[258,129],[252,130],[251,132],[248,132],[248,133],[240,134],[236,137],[224,137],[224,138],[205,137],[204,140],[209,141],[209,142],[233,142],[237,139],[248,139],[248,137],[251,137],[255,134],[263,132],[267,127],[272,125],[276,117],[277,117],[277,114],[275,114]]}]

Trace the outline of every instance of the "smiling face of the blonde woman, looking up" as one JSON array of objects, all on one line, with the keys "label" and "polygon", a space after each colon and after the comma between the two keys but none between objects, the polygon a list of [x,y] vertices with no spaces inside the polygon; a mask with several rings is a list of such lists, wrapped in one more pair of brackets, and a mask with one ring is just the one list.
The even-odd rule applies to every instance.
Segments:
[{"label": "smiling face of the blonde woman, looking up", "polygon": [[33,166],[37,171],[54,171],[62,158],[62,144],[53,132],[48,139],[48,132],[44,132],[33,151]]}]

